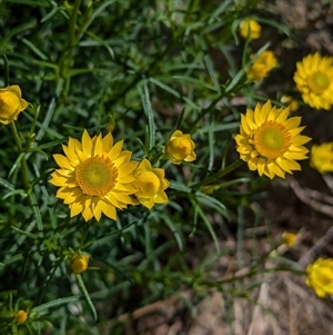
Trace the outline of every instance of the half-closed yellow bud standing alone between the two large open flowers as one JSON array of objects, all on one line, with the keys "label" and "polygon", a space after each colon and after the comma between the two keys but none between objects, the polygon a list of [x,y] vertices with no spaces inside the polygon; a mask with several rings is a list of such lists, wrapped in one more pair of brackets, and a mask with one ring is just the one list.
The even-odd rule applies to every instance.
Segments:
[{"label": "half-closed yellow bud standing alone between the two large open flowers", "polygon": [[194,147],[195,145],[190,134],[183,135],[182,131],[175,130],[168,140],[163,154],[168,156],[173,164],[179,165],[183,160],[193,161],[196,158]]}]

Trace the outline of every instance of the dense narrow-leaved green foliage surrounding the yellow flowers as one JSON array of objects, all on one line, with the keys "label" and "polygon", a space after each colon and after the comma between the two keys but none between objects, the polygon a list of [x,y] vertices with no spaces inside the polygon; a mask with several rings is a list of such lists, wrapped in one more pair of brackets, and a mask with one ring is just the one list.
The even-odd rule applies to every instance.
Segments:
[{"label": "dense narrow-leaved green foliage surrounding the yellow flowers", "polygon": [[[245,69],[270,43],[255,51],[238,36],[256,2],[1,1],[0,87],[19,85],[30,102],[0,128],[1,334],[98,334],[109,319],[112,334],[123,334],[120,315],[180,288],[214,288],[231,304],[246,296],[245,278],[265,272],[270,254],[245,259],[243,234],[245,211],[258,221],[252,199],[264,197],[266,179],[244,173],[233,140],[233,99],[244,97],[244,111],[268,98]],[[117,221],[70,217],[48,180],[52,155],[83,129],[112,131],[133,159],[165,169],[169,203],[129,206]],[[176,129],[191,134],[195,161],[178,166],[162,155]],[[219,257],[235,252],[223,244],[230,229],[238,266],[251,268],[211,278]],[[211,242],[214,253],[199,250],[198,263],[198,248]],[[89,268],[75,276],[69,260],[81,252]],[[29,314],[23,324],[13,318],[19,309]]]}]

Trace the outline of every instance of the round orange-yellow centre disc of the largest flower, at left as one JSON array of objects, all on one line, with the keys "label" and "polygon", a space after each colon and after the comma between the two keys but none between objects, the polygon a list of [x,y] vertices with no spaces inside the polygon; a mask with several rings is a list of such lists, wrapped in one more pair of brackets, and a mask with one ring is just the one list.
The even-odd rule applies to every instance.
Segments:
[{"label": "round orange-yellow centre disc of the largest flower, at left", "polygon": [[91,197],[108,194],[114,187],[117,177],[117,167],[105,157],[90,157],[75,168],[75,181],[82,193]]}]

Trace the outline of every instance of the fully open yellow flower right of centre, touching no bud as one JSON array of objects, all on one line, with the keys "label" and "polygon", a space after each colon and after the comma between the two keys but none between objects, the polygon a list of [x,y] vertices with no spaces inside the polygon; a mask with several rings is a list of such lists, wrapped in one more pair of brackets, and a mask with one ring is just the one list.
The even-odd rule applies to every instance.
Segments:
[{"label": "fully open yellow flower right of centre, touching no bud", "polygon": [[276,175],[285,178],[285,173],[301,170],[295,161],[306,159],[309,151],[304,144],[311,140],[300,132],[301,117],[287,119],[289,108],[276,109],[269,100],[265,105],[256,105],[254,111],[246,110],[241,115],[240,134],[235,136],[236,150],[241,159],[248,161],[250,170],[266,175],[271,179]]}]

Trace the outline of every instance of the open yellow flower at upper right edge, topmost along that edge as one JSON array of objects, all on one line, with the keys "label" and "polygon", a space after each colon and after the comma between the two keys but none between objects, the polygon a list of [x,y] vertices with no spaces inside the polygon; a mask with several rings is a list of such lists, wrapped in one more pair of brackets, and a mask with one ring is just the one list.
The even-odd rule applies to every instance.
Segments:
[{"label": "open yellow flower at upper right edge, topmost along that edge", "polygon": [[296,67],[294,81],[304,102],[329,110],[333,105],[333,58],[315,52],[304,57]]}]

